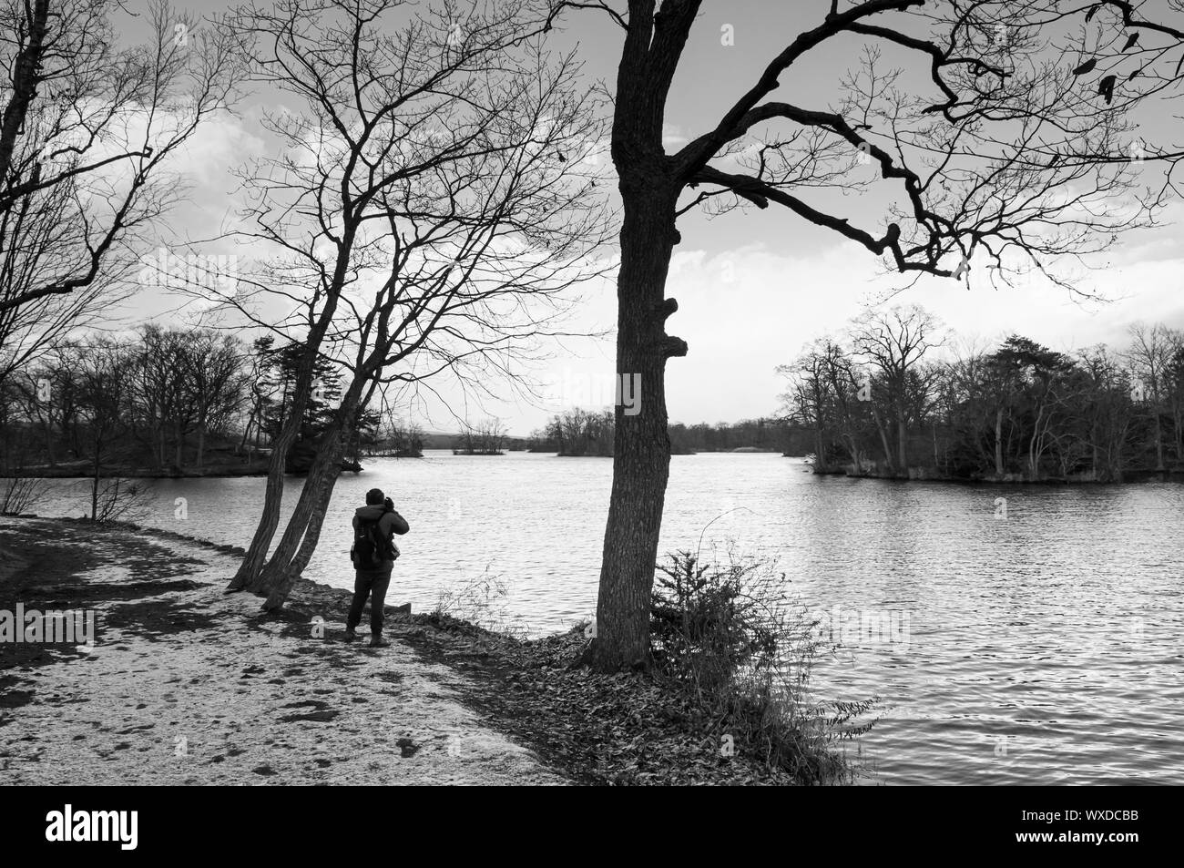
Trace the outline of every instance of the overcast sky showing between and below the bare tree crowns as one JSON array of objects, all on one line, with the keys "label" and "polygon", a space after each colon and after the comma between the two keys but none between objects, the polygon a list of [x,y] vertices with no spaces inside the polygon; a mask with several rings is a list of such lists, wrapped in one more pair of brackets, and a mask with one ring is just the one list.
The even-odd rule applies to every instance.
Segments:
[{"label": "overcast sky showing between and below the bare tree crowns", "polygon": [[[134,0],[133,8],[139,1]],[[798,32],[804,21],[819,21],[825,6],[815,0],[704,2],[669,102],[668,147],[677,148],[714,126],[768,59],[784,49],[786,37]],[[202,6],[200,11],[212,9]],[[136,22],[123,24],[121,31],[135,38]],[[721,44],[725,26],[731,28],[734,45]],[[558,39],[564,45],[578,40],[590,79],[603,78],[611,89],[620,37],[606,15],[584,12],[568,17],[567,28]],[[829,108],[838,92],[837,83],[856,58],[855,44],[836,43],[784,76],[776,96],[792,95],[793,102],[807,108]],[[172,214],[170,226],[179,236],[208,237],[232,219],[231,169],[268,148],[259,109],[263,104],[276,108],[275,99],[275,95],[247,98],[236,117],[202,129],[180,157],[176,167],[188,176],[192,197]],[[1184,135],[1176,134],[1176,126],[1184,122],[1163,105],[1140,120],[1140,135],[1148,142],[1184,141]],[[863,171],[870,173],[871,168]],[[1153,173],[1154,168],[1147,166],[1144,171]],[[873,193],[836,199],[831,206],[852,224],[880,232],[883,201],[881,193]],[[1064,290],[1038,284],[995,290],[972,281],[967,289],[965,283],[948,279],[924,279],[893,303],[921,304],[965,337],[995,341],[1021,333],[1066,351],[1101,341],[1120,345],[1127,324],[1139,320],[1184,328],[1184,250],[1176,219],[1182,214],[1184,210],[1173,207],[1164,225],[1124,237],[1105,259],[1095,263],[1098,270],[1083,276],[1083,285],[1109,300],[1107,303],[1083,302]],[[864,304],[887,297],[900,285],[899,278],[886,276],[863,247],[779,211],[776,205],[714,220],[688,214],[681,219],[680,230],[682,243],[676,247],[667,289],[680,307],[667,328],[689,343],[690,353],[673,359],[667,368],[669,412],[675,422],[735,422],[774,412],[783,390],[774,368],[792,361],[812,339],[842,330]],[[135,308],[124,314],[130,321],[167,322],[179,316],[168,313],[174,304],[157,291],[146,290]],[[611,329],[614,320],[611,283],[590,290],[577,324],[587,330]],[[496,416],[511,432],[526,435],[540,427],[562,403],[570,404],[568,399],[584,406],[611,403],[612,371],[611,336],[567,341],[552,349],[551,366],[539,372],[542,380],[549,381],[554,400],[543,406],[487,401],[482,407],[471,407],[469,414],[472,420]],[[446,384],[440,385],[453,410],[463,414],[463,403]],[[430,430],[456,429],[438,401],[419,404],[414,414]]]}]

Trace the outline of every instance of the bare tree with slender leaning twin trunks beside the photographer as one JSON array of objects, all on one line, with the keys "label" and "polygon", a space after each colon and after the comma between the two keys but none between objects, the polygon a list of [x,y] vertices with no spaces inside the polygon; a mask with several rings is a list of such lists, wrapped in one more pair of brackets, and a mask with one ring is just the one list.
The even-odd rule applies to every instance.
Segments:
[{"label": "bare tree with slender leaning twin trunks beside the photographer", "polygon": [[[283,157],[244,175],[244,234],[282,253],[223,301],[303,346],[290,422],[274,444],[263,516],[229,590],[283,603],[315,549],[359,413],[388,384],[451,372],[488,390],[553,333],[568,292],[600,275],[609,211],[580,156],[600,112],[578,65],[541,45],[546,6],[399,0],[247,7],[258,76],[303,115],[269,126]],[[281,296],[281,322],[255,310]],[[283,455],[317,359],[348,374],[301,499],[278,526]]]}]

